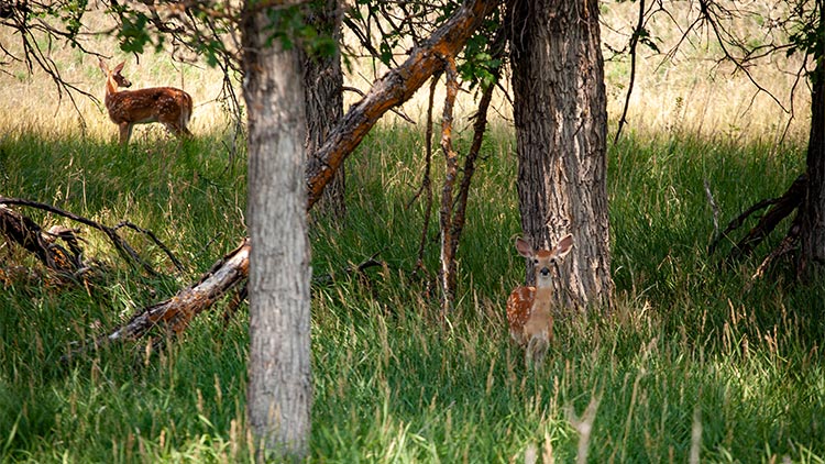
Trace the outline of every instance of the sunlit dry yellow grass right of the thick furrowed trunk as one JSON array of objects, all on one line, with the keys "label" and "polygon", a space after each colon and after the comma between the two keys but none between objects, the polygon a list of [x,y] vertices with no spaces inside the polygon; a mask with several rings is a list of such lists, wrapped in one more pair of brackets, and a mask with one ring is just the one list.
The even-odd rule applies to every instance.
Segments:
[{"label": "sunlit dry yellow grass right of the thick furrowed trunk", "polygon": [[[740,19],[726,25],[740,36],[765,42],[768,31],[758,18],[776,18],[780,12],[776,11],[778,7],[768,3],[752,7],[766,11],[758,12],[761,16]],[[732,63],[721,60],[723,49],[706,29],[698,29],[697,33],[689,34],[682,41],[682,30],[697,15],[695,8],[697,4],[692,2],[669,3],[668,9],[679,26],[664,14],[654,15],[647,24],[660,53],[639,45],[636,86],[628,111],[630,129],[680,131],[735,140],[758,139],[768,143],[779,141],[785,128],[792,139],[806,136],[811,93],[804,78],[796,81],[802,58],[779,53],[749,69],[751,81]],[[636,23],[637,9],[637,2],[617,2],[604,8],[603,42],[614,49],[625,47]],[[605,65],[605,80],[608,113],[615,122],[627,93],[629,59],[613,56],[610,52],[605,53],[605,58],[609,59]],[[765,91],[760,91],[755,82]],[[794,85],[796,95],[791,101]]]}]

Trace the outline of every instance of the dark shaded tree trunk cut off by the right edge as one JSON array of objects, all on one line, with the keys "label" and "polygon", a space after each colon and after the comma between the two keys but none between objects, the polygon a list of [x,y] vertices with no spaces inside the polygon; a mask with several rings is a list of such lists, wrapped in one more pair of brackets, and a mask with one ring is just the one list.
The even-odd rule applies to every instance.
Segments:
[{"label": "dark shaded tree trunk cut off by the right edge", "polygon": [[[821,11],[825,15],[825,11]],[[820,20],[825,21],[825,19]],[[811,75],[811,135],[807,142],[807,192],[800,209],[800,275],[825,264],[825,59],[814,55]]]}]

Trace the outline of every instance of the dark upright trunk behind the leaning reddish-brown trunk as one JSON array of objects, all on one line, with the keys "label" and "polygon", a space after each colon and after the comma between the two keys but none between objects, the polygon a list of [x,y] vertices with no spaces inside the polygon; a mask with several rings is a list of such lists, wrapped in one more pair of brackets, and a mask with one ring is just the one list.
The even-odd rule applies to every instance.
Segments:
[{"label": "dark upright trunk behind the leaning reddish-brown trunk", "polygon": [[[311,10],[308,23],[319,34],[341,40],[341,7],[338,0],[324,0]],[[304,99],[307,104],[307,142],[305,150],[312,155],[308,159],[308,170],[317,170],[322,163],[316,151],[323,145],[330,131],[343,115],[343,73],[341,53],[336,47],[332,55],[310,55],[301,52],[304,62]],[[321,202],[316,208],[321,214],[342,219],[345,212],[345,184],[343,165],[336,172],[323,190]]]}]

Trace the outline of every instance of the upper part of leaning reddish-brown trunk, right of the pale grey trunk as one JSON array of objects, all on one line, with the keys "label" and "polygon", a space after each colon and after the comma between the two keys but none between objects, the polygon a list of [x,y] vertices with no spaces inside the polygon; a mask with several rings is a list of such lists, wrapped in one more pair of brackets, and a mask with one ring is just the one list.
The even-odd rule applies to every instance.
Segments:
[{"label": "upper part of leaning reddish-brown trunk, right of the pale grey trunk", "polygon": [[498,1],[474,0],[462,4],[441,27],[414,48],[397,68],[389,70],[366,96],[353,104],[316,156],[321,164],[307,173],[308,207],[321,197],[324,186],[378,119],[407,101],[435,73],[443,69],[444,57],[455,56]]}]

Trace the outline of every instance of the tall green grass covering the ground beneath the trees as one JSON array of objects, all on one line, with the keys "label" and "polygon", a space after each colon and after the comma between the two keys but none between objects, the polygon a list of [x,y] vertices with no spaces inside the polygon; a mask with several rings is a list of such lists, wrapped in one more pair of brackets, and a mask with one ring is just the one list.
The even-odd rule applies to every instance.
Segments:
[{"label": "tall green grass covering the ground beneath the trees", "polygon": [[[219,303],[148,357],[138,343],[59,364],[69,343],[190,284],[244,234],[243,157],[230,162],[219,136],[183,145],[154,133],[135,139],[127,151],[29,133],[0,139],[2,195],[110,225],[128,219],[154,231],[186,266],[176,273],[156,246],[130,233],[164,274],[146,277],[87,231],[89,254],[108,272],[76,287],[48,278],[20,250],[0,247],[4,462],[250,461],[245,307],[224,325]],[[421,179],[421,135],[380,128],[348,162],[344,222],[317,218],[310,232],[315,274],[336,275],[312,290],[311,461],[521,462],[526,453],[551,453],[570,462],[579,445],[574,419],[594,398],[592,462],[686,462],[692,445],[703,462],[825,460],[825,286],[796,284],[787,266],[751,281],[758,256],[723,266],[706,253],[713,212],[704,181],[724,227],[754,201],[783,192],[803,167],[802,150],[646,134],[612,146],[616,307],[608,318],[557,324],[539,372],[525,369],[503,314],[524,268],[512,240],[519,232],[514,152],[507,131],[495,128],[459,251],[459,302],[443,325],[431,288],[435,217],[431,275],[411,273],[424,220],[420,199],[409,203]],[[433,159],[441,165],[440,153]],[[385,268],[366,278],[342,273],[375,253]]]}]

